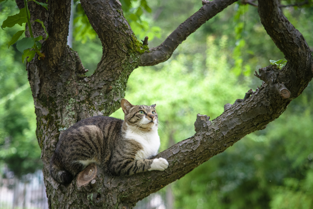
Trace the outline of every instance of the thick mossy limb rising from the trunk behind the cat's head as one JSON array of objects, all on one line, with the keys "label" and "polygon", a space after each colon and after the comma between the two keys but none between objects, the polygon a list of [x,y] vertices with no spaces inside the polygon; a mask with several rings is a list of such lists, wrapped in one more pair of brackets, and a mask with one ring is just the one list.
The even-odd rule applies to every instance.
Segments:
[{"label": "thick mossy limb rising from the trunk behind the cat's head", "polygon": [[94,74],[81,83],[88,94],[79,95],[77,100],[92,101],[89,107],[82,107],[94,109],[91,116],[110,115],[120,107],[118,100],[124,97],[128,76],[138,66],[137,54],[142,44],[132,32],[118,0],[82,0],[80,3],[99,35],[103,52]]}]

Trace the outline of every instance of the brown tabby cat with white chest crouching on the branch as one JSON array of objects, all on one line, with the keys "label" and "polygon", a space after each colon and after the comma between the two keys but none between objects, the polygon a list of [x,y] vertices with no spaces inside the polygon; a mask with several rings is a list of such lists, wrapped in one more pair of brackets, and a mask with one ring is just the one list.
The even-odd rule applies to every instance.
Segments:
[{"label": "brown tabby cat with white chest crouching on the branch", "polygon": [[60,135],[50,161],[54,180],[69,184],[90,163],[115,176],[167,169],[166,159],[149,159],[160,147],[156,104],[132,105],[121,99],[121,107],[124,120],[94,116]]}]

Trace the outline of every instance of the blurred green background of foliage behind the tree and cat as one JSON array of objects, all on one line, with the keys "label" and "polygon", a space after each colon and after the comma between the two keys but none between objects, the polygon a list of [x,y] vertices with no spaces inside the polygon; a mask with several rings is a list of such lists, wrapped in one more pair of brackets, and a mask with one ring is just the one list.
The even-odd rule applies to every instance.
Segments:
[{"label": "blurred green background of foliage behind the tree and cat", "polygon": [[[121,3],[137,38],[149,37],[149,47],[161,44],[202,6],[199,0]],[[281,9],[313,47],[311,5]],[[74,1],[73,11],[69,45],[91,75],[102,55],[101,42],[79,2]],[[15,13],[14,1],[0,3],[1,24]],[[18,30],[0,30],[0,208],[46,208],[27,71],[16,44],[8,49]],[[262,81],[254,71],[280,59],[284,55],[264,30],[257,8],[234,3],[191,34],[169,60],[135,69],[125,98],[132,104],[156,103],[162,151],[195,133],[197,113],[214,119],[226,103],[242,99],[250,88],[255,91]],[[310,83],[266,129],[247,135],[136,208],[313,208],[312,96]],[[123,118],[123,112],[111,116]]]}]

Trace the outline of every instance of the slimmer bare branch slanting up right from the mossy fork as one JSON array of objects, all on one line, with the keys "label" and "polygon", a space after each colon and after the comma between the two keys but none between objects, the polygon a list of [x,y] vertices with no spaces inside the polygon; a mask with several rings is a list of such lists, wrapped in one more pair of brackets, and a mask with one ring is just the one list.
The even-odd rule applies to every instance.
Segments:
[{"label": "slimmer bare branch slanting up right from the mossy fork", "polygon": [[182,41],[195,32],[202,24],[213,18],[223,9],[236,2],[237,0],[214,0],[203,1],[204,5],[198,12],[194,13],[185,22],[180,24],[162,44],[155,48],[149,49],[141,55],[139,66],[156,65],[160,62],[168,60],[173,51]]}]

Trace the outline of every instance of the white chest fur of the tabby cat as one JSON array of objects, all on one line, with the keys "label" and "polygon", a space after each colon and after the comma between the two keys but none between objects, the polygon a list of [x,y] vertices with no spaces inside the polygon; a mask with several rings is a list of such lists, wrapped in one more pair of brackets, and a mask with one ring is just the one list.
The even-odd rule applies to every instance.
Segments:
[{"label": "white chest fur of the tabby cat", "polygon": [[135,160],[148,159],[157,154],[160,147],[160,137],[157,133],[157,128],[152,128],[149,132],[131,130],[126,132],[125,138],[135,140],[140,143],[142,148],[135,155]]}]

